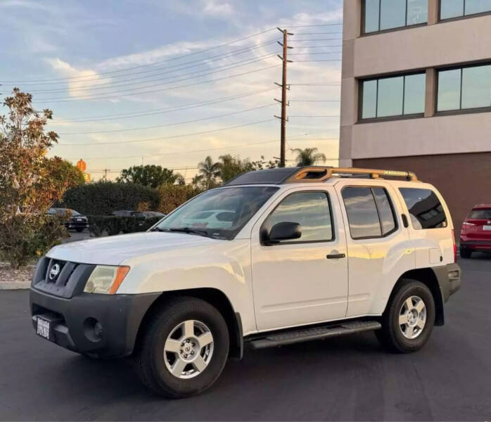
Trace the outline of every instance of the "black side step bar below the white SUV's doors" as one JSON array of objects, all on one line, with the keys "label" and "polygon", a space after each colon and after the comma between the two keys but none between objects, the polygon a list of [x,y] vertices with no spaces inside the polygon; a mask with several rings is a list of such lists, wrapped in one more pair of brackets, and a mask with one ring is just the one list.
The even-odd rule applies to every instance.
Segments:
[{"label": "black side step bar below the white SUV's doors", "polygon": [[310,340],[320,340],[321,338],[338,337],[339,335],[361,333],[362,331],[379,330],[382,325],[378,321],[351,321],[338,326],[320,326],[314,328],[303,328],[295,331],[286,331],[267,335],[249,342],[253,349],[265,349],[283,345],[293,345]]}]

